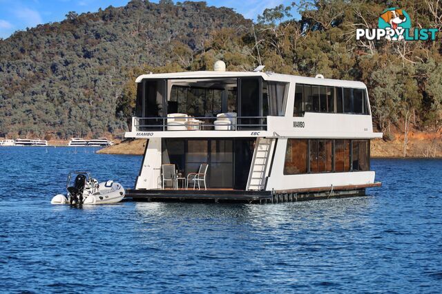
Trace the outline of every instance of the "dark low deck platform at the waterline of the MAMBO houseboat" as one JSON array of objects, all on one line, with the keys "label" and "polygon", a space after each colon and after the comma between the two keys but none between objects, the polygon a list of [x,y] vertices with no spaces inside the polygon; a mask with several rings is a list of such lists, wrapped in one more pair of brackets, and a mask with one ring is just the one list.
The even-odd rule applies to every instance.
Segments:
[{"label": "dark low deck platform at the waterline of the MAMBO houseboat", "polygon": [[128,189],[126,198],[134,201],[200,201],[200,202],[247,202],[278,203],[364,196],[366,188],[381,187],[381,182],[367,185],[317,187],[280,191],[244,191],[235,189]]}]

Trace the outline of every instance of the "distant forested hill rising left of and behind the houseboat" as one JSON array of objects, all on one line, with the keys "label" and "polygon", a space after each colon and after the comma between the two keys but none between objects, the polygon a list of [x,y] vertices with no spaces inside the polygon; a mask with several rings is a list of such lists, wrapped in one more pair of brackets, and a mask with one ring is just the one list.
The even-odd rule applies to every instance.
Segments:
[{"label": "distant forested hill rising left of and behind the houseboat", "polygon": [[211,31],[242,25],[242,15],[204,2],[137,0],[16,32],[0,41],[0,137],[121,132],[133,67],[190,62]]}]

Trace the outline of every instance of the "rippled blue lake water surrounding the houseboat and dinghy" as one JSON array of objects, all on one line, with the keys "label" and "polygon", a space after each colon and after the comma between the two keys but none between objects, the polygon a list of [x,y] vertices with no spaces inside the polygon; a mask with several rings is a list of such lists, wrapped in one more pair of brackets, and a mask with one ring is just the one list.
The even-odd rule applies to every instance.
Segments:
[{"label": "rippled blue lake water surrounding the houseboat and dinghy", "polygon": [[95,150],[0,147],[0,291],[442,291],[442,160],[374,159],[358,198],[50,205],[71,169],[133,187],[141,156]]}]

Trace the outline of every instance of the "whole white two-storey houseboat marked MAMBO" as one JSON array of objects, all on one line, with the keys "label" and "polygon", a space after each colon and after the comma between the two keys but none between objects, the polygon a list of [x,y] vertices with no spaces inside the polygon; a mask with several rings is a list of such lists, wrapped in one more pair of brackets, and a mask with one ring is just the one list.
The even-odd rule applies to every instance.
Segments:
[{"label": "whole white two-storey houseboat marked MAMBO", "polygon": [[365,195],[367,87],[276,74],[144,74],[126,138],[148,139],[134,200],[280,202]]}]

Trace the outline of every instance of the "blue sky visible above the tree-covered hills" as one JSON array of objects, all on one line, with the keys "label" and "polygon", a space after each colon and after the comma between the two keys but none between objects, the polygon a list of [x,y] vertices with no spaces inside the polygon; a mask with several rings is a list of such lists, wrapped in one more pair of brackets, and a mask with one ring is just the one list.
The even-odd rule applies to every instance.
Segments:
[{"label": "blue sky visible above the tree-covered hills", "polygon": [[[75,11],[97,12],[98,8],[125,6],[129,0],[0,0],[0,38],[6,39],[16,30],[26,30],[41,23],[62,21]],[[175,0],[174,2],[176,2]],[[248,19],[256,19],[265,8],[287,6],[293,0],[206,0],[209,6],[234,8]],[[158,0],[151,0],[157,3]]]}]

